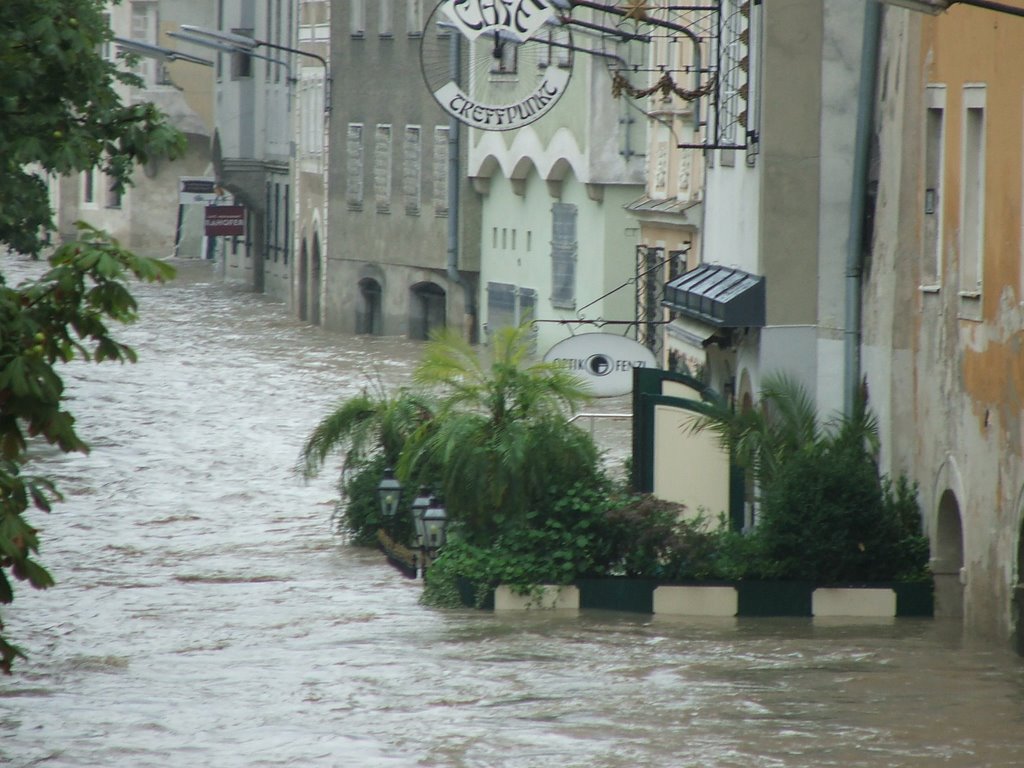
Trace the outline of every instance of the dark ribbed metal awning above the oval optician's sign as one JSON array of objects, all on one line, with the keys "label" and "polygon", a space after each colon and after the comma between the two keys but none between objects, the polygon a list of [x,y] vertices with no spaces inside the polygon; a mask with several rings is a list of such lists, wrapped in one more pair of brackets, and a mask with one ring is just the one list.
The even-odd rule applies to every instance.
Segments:
[{"label": "dark ribbed metal awning above the oval optician's sign", "polygon": [[721,264],[701,264],[667,284],[663,303],[717,328],[763,328],[765,279]]}]

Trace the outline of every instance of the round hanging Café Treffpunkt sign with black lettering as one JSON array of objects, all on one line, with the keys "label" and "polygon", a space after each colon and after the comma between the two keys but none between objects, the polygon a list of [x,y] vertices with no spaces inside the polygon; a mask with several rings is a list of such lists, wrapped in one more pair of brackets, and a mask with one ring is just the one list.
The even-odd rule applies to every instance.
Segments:
[{"label": "round hanging Caf\u00e9 Treffpunkt sign with black lettering", "polygon": [[551,0],[441,0],[420,41],[427,88],[449,115],[510,131],[551,111],[572,74],[572,36]]}]

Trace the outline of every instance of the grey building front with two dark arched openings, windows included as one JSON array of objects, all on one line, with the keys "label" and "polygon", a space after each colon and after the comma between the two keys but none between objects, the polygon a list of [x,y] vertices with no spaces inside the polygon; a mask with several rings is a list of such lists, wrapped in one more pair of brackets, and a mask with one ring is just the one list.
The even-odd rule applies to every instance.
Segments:
[{"label": "grey building front with two dark arched openings, windows included", "polygon": [[465,129],[420,76],[430,10],[419,0],[331,6],[322,322],[333,331],[425,339],[475,328],[479,202]]}]

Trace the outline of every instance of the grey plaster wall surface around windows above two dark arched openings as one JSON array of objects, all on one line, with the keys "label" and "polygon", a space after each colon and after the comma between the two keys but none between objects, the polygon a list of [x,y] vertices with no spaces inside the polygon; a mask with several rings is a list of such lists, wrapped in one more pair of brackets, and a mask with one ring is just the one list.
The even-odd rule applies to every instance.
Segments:
[{"label": "grey plaster wall surface around windows above two dark arched openings", "polygon": [[[361,32],[351,27],[348,4],[330,14],[331,62],[335,73],[328,170],[330,220],[324,255],[323,324],[344,333],[357,330],[359,280],[381,284],[385,336],[410,332],[411,291],[433,284],[444,291],[447,325],[462,328],[476,312],[479,270],[480,202],[466,173],[468,133],[460,134],[460,206],[457,267],[463,284],[452,280],[449,266],[446,134],[435,154],[437,130],[450,126],[420,73],[420,32],[406,28],[406,13],[392,11],[392,28],[380,32],[380,7],[367,3]],[[349,138],[359,126],[358,141]],[[388,148],[378,150],[381,131],[390,128]],[[406,196],[407,128],[420,133],[419,208]],[[355,159],[358,158],[358,162]],[[350,179],[350,176],[352,178]],[[362,189],[359,201],[352,183]],[[386,183],[385,183],[386,182]]]}]

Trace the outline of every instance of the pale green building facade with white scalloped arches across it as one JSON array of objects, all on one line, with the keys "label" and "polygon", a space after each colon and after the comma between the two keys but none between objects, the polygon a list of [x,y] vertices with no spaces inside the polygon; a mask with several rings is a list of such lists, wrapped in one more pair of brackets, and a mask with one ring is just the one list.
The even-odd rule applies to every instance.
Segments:
[{"label": "pale green building facade with white scalloped arches across it", "polygon": [[[572,17],[607,26],[601,16],[578,8]],[[601,322],[631,330],[637,229],[626,206],[643,189],[646,138],[642,114],[614,98],[611,73],[641,55],[632,48],[585,26],[553,25],[509,60],[474,49],[473,93],[485,103],[542,82],[549,69],[568,76],[539,120],[471,135],[469,174],[483,199],[482,339],[534,321],[543,354],[570,334],[605,328]]]}]

